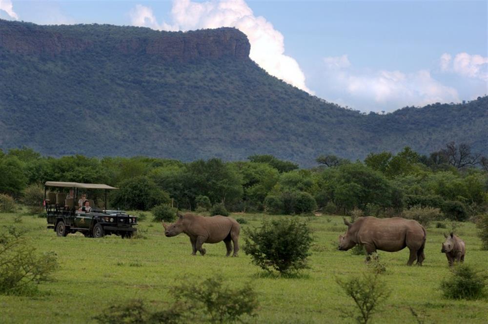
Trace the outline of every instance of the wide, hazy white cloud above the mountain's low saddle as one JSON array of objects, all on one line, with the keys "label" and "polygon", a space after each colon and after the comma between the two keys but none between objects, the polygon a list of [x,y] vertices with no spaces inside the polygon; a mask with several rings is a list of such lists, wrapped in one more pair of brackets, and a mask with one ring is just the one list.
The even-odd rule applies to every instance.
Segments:
[{"label": "wide, hazy white cloud above the mountain's low saddle", "polygon": [[427,70],[359,71],[346,55],[325,57],[324,96],[337,102],[345,98],[349,106],[362,111],[394,111],[405,106],[424,106],[433,102],[457,102],[456,89],[435,80]]}]

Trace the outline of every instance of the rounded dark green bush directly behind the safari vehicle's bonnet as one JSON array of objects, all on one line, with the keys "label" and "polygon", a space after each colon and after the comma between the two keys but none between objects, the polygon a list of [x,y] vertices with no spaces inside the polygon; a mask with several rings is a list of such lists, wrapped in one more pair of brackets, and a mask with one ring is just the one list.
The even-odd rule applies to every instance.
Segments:
[{"label": "rounded dark green bush directly behind the safari vehicle's bonnet", "polygon": [[122,209],[149,210],[171,201],[169,195],[146,176],[124,180],[119,189],[114,191],[112,204]]}]

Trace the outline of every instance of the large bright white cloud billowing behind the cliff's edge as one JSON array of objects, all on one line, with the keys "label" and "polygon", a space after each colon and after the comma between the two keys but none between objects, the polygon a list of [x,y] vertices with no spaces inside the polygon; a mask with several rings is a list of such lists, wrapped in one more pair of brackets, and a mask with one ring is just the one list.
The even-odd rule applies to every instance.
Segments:
[{"label": "large bright white cloud billowing behind the cliff's edge", "polygon": [[206,1],[175,0],[172,22],[158,24],[150,8],[137,5],[131,12],[132,24],[158,30],[195,30],[201,28],[236,27],[249,38],[249,57],[270,75],[312,93],[305,85],[305,74],[298,62],[285,55],[283,35],[264,17],[254,16],[243,0]]}]

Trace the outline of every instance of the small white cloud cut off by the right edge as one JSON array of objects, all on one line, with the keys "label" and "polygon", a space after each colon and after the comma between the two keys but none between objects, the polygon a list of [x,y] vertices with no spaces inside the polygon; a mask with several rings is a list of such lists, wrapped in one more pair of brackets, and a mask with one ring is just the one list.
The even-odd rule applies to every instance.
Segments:
[{"label": "small white cloud cut off by the right edge", "polygon": [[451,56],[445,53],[441,56],[440,65],[443,72],[452,72],[488,82],[488,57],[459,53],[451,60]]}]

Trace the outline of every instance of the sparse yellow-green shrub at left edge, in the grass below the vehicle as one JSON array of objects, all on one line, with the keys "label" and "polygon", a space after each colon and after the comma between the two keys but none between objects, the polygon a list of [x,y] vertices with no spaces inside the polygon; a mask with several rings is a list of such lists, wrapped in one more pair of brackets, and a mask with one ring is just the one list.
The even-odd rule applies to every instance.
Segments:
[{"label": "sparse yellow-green shrub at left edge, in the grass below the vehicle", "polygon": [[15,228],[0,233],[0,260],[0,294],[31,294],[59,267],[53,252],[37,253]]}]

